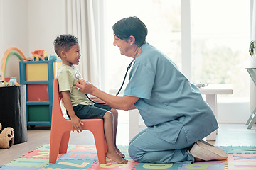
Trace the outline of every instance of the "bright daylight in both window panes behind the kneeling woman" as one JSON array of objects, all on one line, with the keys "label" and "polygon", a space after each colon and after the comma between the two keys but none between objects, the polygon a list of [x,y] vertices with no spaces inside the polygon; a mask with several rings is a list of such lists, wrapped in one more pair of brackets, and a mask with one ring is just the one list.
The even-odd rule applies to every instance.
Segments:
[{"label": "bright daylight in both window panes behind the kneeling woman", "polygon": [[[193,0],[190,6],[191,83],[233,84],[233,95],[222,96],[248,101],[249,0]],[[119,88],[132,60],[113,45],[112,25],[124,17],[139,17],[149,30],[146,42],[166,53],[182,70],[181,1],[107,0],[105,7],[108,89]]]}]

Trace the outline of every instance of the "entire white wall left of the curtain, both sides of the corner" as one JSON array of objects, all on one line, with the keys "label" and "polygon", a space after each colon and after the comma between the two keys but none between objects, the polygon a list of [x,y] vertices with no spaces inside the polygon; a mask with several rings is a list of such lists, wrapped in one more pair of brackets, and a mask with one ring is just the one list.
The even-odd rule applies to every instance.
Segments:
[{"label": "entire white wall left of the curtain, both sides of the corner", "polygon": [[[55,54],[53,41],[65,33],[65,1],[0,0],[0,61],[9,47],[18,47],[26,57],[34,50]],[[17,77],[18,57],[10,57],[6,76]]]}]

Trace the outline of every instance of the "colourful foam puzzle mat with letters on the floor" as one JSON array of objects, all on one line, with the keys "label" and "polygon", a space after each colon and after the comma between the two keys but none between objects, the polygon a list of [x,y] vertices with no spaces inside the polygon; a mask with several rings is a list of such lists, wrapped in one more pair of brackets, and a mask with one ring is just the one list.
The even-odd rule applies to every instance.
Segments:
[{"label": "colourful foam puzzle mat with letters on the floor", "polygon": [[107,159],[107,164],[99,164],[97,161],[97,152],[95,145],[68,145],[66,154],[59,154],[56,164],[49,164],[50,145],[42,145],[25,154],[18,159],[0,166],[1,170],[78,170],[78,169],[171,169],[171,170],[188,170],[188,169],[256,169],[256,146],[227,146],[220,147],[228,154],[225,161],[196,162],[194,164],[149,164],[134,162],[128,154],[128,146],[119,146],[128,164],[116,164]]}]

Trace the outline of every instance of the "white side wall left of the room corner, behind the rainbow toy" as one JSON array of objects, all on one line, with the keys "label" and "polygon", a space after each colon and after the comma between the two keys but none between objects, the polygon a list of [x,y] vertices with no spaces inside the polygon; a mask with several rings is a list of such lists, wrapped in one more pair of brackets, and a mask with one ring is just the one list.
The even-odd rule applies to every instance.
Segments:
[{"label": "white side wall left of the room corner, behind the rainbow toy", "polygon": [[[18,47],[28,54],[28,1],[1,0],[1,56],[9,47]],[[10,57],[6,75],[19,77],[18,58]]]}]

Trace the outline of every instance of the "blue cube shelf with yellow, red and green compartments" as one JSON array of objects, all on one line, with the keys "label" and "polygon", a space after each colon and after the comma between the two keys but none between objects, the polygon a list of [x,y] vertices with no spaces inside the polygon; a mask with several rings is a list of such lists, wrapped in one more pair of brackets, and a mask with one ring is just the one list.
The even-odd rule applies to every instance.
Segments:
[{"label": "blue cube shelf with yellow, red and green compartments", "polygon": [[26,85],[27,125],[50,125],[53,79],[60,60],[19,62],[21,84]]}]

